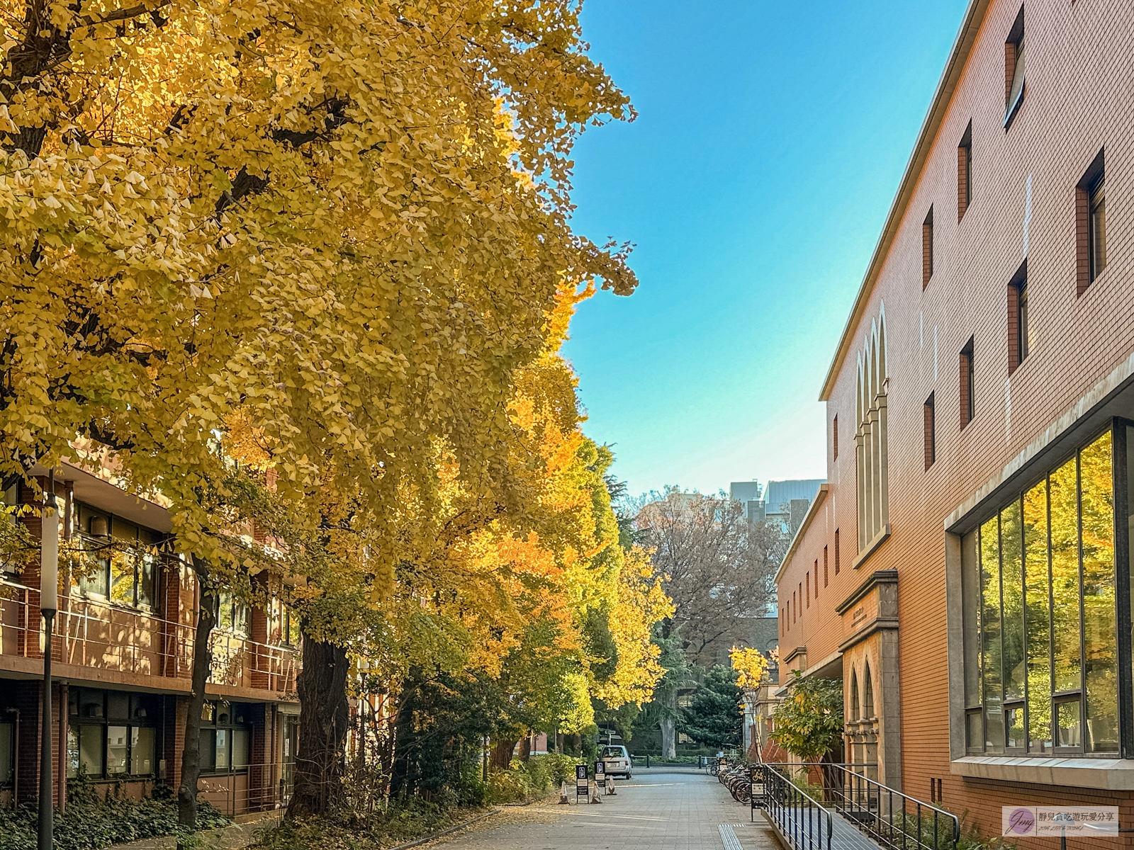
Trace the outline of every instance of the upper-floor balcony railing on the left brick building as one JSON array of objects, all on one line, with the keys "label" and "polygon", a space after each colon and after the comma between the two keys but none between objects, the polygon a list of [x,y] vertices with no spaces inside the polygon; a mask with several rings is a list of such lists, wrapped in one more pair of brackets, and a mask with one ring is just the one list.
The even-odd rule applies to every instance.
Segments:
[{"label": "upper-floor balcony railing on the left brick building", "polygon": [[[39,590],[0,581],[0,655],[41,657],[43,626]],[[187,620],[189,618],[186,618]],[[166,620],[155,613],[100,600],[60,600],[52,637],[52,660],[77,666],[138,675],[189,679],[194,622]],[[298,651],[213,631],[209,681],[279,692],[295,690]]]}]

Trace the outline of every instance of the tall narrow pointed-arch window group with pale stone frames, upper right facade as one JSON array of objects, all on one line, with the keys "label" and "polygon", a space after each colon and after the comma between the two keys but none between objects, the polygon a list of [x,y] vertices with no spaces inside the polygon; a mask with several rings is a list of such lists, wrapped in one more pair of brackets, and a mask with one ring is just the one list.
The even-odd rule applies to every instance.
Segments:
[{"label": "tall narrow pointed-arch window group with pale stone frames, upper right facade", "polygon": [[890,491],[887,474],[886,393],[886,306],[870,324],[870,335],[858,354],[855,392],[855,449],[858,468],[858,551],[866,549],[890,519]]}]

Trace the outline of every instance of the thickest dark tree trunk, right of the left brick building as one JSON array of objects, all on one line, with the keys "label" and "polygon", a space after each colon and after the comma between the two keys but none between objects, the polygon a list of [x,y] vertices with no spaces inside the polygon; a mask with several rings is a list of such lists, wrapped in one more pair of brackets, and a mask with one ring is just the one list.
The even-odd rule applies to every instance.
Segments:
[{"label": "thickest dark tree trunk, right of the left brick building", "polygon": [[303,670],[296,678],[299,696],[299,746],[295,758],[295,790],[288,818],[327,814],[342,791],[344,747],[349,724],[346,649],[303,636]]}]

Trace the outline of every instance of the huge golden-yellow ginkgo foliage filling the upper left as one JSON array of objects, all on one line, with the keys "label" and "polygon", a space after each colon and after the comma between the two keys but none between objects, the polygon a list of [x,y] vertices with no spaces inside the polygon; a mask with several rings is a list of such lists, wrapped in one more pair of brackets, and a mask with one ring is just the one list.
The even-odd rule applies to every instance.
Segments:
[{"label": "huge golden-yellow ginkgo foliage filling the upper left", "polygon": [[[575,138],[633,117],[578,14],[0,0],[0,473],[112,451],[215,587],[247,569],[220,450],[243,417],[294,539],[364,537],[376,604],[439,452],[506,501],[514,376],[557,292],[635,287],[569,227]],[[311,669],[341,661],[316,607]]]}]

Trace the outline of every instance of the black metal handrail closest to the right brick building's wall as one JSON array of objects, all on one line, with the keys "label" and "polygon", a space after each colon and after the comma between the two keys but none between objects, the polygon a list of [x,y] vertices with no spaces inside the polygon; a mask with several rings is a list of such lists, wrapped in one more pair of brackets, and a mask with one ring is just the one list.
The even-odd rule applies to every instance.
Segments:
[{"label": "black metal handrail closest to the right brick building's wall", "polygon": [[[823,772],[823,796],[833,808],[890,850],[956,850],[960,821],[861,772],[873,765],[804,764]],[[856,770],[857,768],[857,770]],[[836,781],[831,781],[831,776]]]}]

